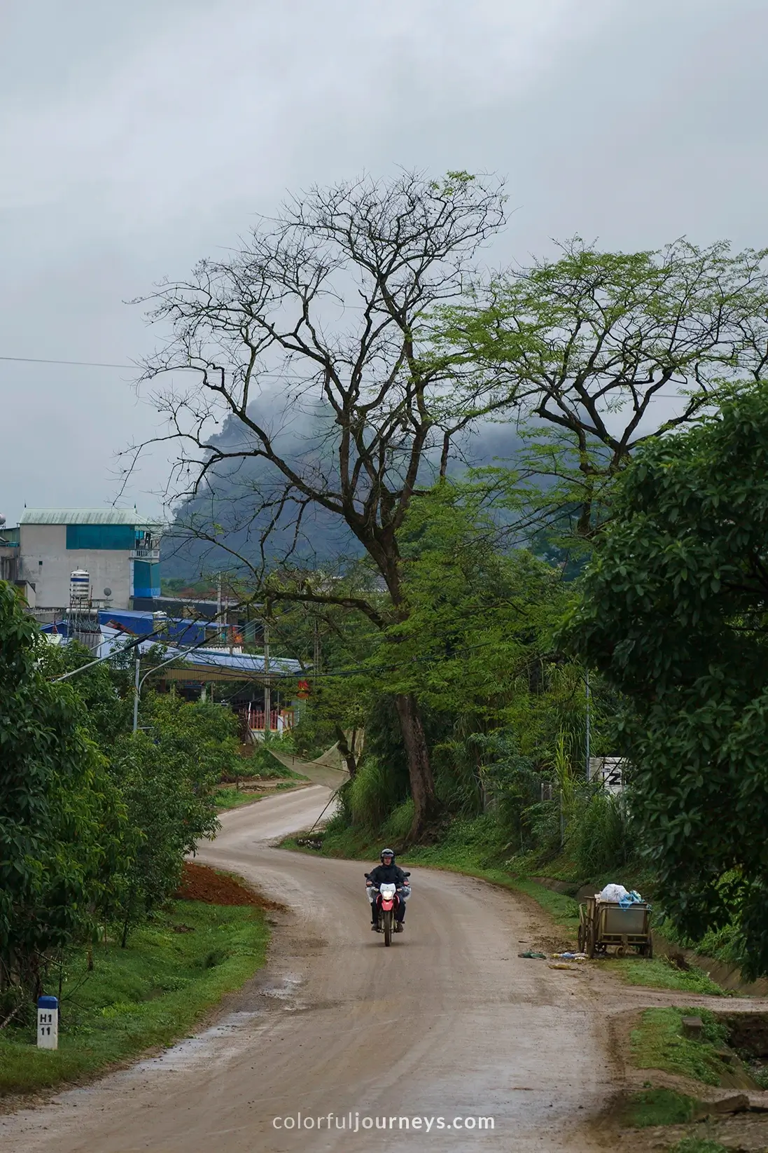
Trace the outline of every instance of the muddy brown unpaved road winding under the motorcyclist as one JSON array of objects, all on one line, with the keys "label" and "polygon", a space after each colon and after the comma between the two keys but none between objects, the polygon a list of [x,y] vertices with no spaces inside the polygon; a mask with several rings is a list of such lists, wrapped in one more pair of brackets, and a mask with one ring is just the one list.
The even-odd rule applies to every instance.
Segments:
[{"label": "muddy brown unpaved road winding under the motorcyclist", "polygon": [[[615,1070],[600,986],[518,958],[547,930],[526,902],[428,869],[413,869],[406,932],[385,949],[369,930],[360,864],[269,845],[310,826],[327,797],[313,785],[226,813],[199,853],[289,909],[276,914],[268,970],[223,1019],[92,1087],[0,1118],[3,1153],[603,1147],[594,1121]],[[336,1128],[351,1116],[354,1129],[355,1114],[357,1125],[393,1125]],[[454,1122],[479,1116],[494,1130]],[[276,1128],[284,1117],[293,1129]],[[445,1128],[434,1120],[429,1132],[426,1122],[406,1131],[399,1117]]]}]

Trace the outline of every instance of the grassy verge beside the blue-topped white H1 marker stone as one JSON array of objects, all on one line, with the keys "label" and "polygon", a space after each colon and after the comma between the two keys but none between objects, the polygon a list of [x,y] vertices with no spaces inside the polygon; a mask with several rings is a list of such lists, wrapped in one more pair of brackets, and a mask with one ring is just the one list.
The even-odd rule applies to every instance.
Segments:
[{"label": "grassy verge beside the blue-topped white H1 marker stone", "polygon": [[[80,1082],[106,1067],[187,1035],[201,1016],[264,964],[261,910],[176,900],[135,929],[128,948],[110,942],[65,962],[59,1049],[36,1047],[35,1026],[0,1033],[0,1095]],[[55,993],[58,971],[46,992]]]}]

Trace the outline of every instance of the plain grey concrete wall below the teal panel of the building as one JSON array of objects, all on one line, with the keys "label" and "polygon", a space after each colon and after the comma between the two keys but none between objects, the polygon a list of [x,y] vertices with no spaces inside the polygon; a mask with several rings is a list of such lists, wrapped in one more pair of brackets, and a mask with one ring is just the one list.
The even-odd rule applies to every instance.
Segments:
[{"label": "plain grey concrete wall below the teal panel of the building", "polygon": [[22,525],[21,567],[24,580],[35,585],[37,606],[69,606],[69,574],[85,568],[91,578],[91,595],[104,598],[111,588],[110,603],[115,609],[130,608],[130,559],[120,549],[68,549],[66,525]]}]

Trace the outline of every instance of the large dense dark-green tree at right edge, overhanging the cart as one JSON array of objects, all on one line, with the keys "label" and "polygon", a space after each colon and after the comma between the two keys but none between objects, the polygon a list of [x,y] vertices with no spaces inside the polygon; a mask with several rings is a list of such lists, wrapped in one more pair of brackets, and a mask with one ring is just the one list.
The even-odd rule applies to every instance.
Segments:
[{"label": "large dense dark-green tree at right edge, overhanging the cart", "polygon": [[700,937],[737,915],[768,973],[768,385],[645,446],[573,610],[574,650],[622,725],[665,910]]}]

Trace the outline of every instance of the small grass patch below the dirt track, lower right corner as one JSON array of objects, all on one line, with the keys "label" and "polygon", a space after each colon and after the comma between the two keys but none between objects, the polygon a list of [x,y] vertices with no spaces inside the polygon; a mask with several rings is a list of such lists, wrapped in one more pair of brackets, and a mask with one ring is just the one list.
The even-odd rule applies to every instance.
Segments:
[{"label": "small grass patch below the dirt track, lower right corner", "polygon": [[[682,1022],[686,1016],[701,1018],[701,1040],[683,1035]],[[640,1025],[632,1030],[631,1061],[635,1069],[661,1069],[705,1085],[720,1085],[724,1073],[738,1071],[744,1072],[748,1083],[748,1073],[726,1042],[726,1026],[706,1009],[646,1009]]]}]

